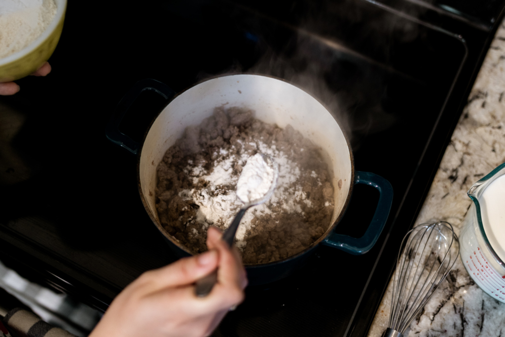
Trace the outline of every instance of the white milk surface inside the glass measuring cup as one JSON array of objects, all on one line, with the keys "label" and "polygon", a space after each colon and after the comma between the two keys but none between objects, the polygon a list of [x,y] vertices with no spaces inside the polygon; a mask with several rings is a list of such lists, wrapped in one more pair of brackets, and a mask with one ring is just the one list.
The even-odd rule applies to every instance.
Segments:
[{"label": "white milk surface inside the glass measuring cup", "polygon": [[496,178],[479,198],[482,225],[489,244],[505,261],[505,175]]}]

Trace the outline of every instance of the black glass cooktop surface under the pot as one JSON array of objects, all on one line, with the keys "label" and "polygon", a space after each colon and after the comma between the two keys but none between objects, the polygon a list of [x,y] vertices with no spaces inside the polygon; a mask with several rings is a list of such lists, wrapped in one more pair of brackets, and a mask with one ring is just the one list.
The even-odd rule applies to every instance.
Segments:
[{"label": "black glass cooktop surface under the pot", "polygon": [[[331,108],[356,169],[388,179],[393,205],[368,254],[320,247],[292,276],[247,288],[214,335],[365,335],[503,8],[470,16],[444,4],[70,2],[52,73],[0,97],[0,259],[106,310],[176,259],[140,202],[136,158],[105,137],[122,95],[143,78],[181,91],[227,72],[274,75]],[[141,139],[164,104],[143,94],[121,130]],[[356,186],[337,232],[361,236],[377,200]]]}]

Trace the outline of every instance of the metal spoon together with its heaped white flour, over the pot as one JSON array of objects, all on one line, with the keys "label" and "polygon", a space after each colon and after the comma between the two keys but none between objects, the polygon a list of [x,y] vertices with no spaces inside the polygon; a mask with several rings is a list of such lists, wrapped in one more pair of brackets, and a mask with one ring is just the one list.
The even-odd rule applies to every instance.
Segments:
[{"label": "metal spoon together with its heaped white flour, over the pot", "polygon": [[[223,233],[221,239],[233,245],[233,239],[245,211],[252,206],[260,205],[270,199],[279,177],[279,165],[265,154],[256,154],[247,160],[237,182],[237,197],[244,203],[237,215]],[[196,281],[195,294],[207,296],[217,281],[217,269]]]}]

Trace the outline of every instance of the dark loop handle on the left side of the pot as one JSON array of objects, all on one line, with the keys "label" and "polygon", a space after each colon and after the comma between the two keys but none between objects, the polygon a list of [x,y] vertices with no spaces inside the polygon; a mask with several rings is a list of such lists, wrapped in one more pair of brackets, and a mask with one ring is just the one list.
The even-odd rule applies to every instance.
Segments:
[{"label": "dark loop handle on the left side of the pot", "polygon": [[109,123],[107,123],[107,128],[105,131],[105,134],[110,141],[125,148],[134,155],[136,155],[140,149],[140,143],[136,142],[126,134],[119,131],[119,124],[123,120],[123,117],[125,116],[128,109],[130,109],[132,103],[135,102],[137,97],[144,90],[153,90],[156,93],[162,95],[167,101],[175,95],[175,91],[172,90],[168,85],[155,79],[145,78],[138,81],[123,96],[121,101],[119,101],[116,110],[114,110],[114,114],[109,120]]}]

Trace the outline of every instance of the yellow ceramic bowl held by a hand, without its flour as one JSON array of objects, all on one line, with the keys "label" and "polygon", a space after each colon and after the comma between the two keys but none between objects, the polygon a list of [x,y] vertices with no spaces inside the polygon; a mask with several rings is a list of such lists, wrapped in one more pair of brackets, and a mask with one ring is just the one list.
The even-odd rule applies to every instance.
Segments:
[{"label": "yellow ceramic bowl held by a hand, without its flour", "polygon": [[67,0],[55,0],[57,12],[53,22],[25,49],[0,59],[0,83],[28,76],[55,51],[63,29]]}]

